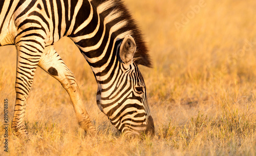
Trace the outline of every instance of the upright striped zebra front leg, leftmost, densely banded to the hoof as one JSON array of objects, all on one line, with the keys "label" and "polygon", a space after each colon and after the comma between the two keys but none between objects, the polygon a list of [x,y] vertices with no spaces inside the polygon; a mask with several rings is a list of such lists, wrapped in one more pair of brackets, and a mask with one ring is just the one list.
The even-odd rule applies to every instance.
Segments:
[{"label": "upright striped zebra front leg, leftmost, densely banded to the hoof", "polygon": [[16,101],[12,128],[14,129],[14,135],[27,140],[29,139],[29,135],[25,126],[26,101],[44,47],[42,47],[41,44],[38,46],[37,42],[20,40],[16,44],[16,49]]}]

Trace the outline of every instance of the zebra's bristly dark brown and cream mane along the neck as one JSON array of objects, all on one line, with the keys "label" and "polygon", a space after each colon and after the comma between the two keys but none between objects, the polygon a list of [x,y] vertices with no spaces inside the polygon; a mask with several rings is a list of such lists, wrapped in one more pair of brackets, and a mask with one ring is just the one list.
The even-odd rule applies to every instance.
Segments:
[{"label": "zebra's bristly dark brown and cream mane along the neck", "polygon": [[136,52],[134,54],[134,62],[138,65],[144,65],[152,68],[152,61],[148,54],[148,48],[143,35],[136,24],[136,21],[130,14],[130,11],[125,7],[121,0],[93,0],[91,3],[95,7],[100,7],[103,10],[100,16],[104,18],[114,18],[107,24],[106,27],[112,28],[120,21],[121,28],[117,29],[112,35],[123,39],[125,35],[131,35],[136,42]]}]

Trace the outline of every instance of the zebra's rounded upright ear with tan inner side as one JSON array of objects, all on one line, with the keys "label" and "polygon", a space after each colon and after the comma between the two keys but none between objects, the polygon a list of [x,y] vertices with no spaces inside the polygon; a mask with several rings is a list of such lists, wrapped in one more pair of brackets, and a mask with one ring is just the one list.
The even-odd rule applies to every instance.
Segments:
[{"label": "zebra's rounded upright ear with tan inner side", "polygon": [[133,55],[136,51],[136,43],[132,36],[127,35],[124,37],[120,46],[120,57],[125,64],[133,62]]}]

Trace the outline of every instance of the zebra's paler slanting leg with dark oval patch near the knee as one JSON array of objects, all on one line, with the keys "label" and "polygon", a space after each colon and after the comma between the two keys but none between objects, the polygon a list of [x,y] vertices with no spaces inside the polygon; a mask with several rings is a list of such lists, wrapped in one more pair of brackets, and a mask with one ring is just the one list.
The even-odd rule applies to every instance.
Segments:
[{"label": "zebra's paler slanting leg with dark oval patch near the knee", "polygon": [[79,126],[86,132],[94,135],[96,129],[83,105],[74,74],[68,69],[67,65],[54,50],[53,46],[46,47],[38,66],[61,83],[63,88],[68,92],[73,103]]}]

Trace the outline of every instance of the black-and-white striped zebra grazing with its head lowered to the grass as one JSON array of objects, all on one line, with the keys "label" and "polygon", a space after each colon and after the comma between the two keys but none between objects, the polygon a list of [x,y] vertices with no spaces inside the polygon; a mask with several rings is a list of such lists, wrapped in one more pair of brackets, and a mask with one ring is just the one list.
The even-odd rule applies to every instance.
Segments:
[{"label": "black-and-white striped zebra grazing with its head lowered to the grass", "polygon": [[12,127],[28,138],[26,100],[37,66],[57,79],[68,92],[79,126],[95,133],[83,106],[78,85],[53,48],[63,36],[71,38],[87,60],[98,84],[97,105],[111,123],[126,134],[154,135],[146,87],[138,64],[151,60],[135,21],[118,0],[2,0],[0,46],[17,50],[16,101]]}]

